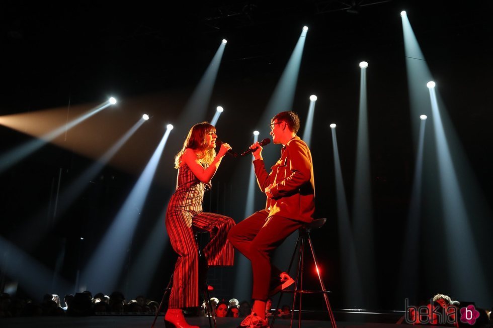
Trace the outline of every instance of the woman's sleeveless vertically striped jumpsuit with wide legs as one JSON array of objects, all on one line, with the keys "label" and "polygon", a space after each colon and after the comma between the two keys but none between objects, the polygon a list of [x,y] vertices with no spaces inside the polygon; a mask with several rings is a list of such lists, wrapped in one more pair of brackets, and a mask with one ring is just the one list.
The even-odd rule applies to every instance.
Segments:
[{"label": "woman's sleeveless vertically striped jumpsuit with wide legs", "polygon": [[201,182],[187,164],[178,169],[177,186],[166,212],[166,230],[178,254],[173,273],[169,308],[199,305],[198,249],[192,227],[210,233],[211,240],[203,255],[209,266],[233,265],[234,250],[227,240],[232,218],[202,211],[204,191],[211,183]]}]

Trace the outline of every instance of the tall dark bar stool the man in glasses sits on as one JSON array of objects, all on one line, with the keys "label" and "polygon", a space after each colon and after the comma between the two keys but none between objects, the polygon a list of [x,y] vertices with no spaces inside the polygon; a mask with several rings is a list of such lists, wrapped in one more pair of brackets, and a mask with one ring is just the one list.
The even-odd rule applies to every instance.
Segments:
[{"label": "tall dark bar stool the man in glasses sits on", "polygon": [[[315,251],[313,250],[313,244],[312,244],[311,238],[310,238],[311,230],[321,228],[325,224],[326,221],[327,221],[326,218],[318,218],[316,220],[313,220],[310,223],[304,224],[303,226],[301,226],[300,229],[298,229],[298,240],[296,241],[296,246],[294,248],[293,256],[291,257],[291,262],[289,264],[289,269],[288,269],[288,273],[289,273],[291,271],[291,267],[293,265],[294,258],[296,257],[296,252],[298,252],[299,253],[298,272],[296,274],[296,278],[295,278],[295,282],[294,282],[294,289],[293,290],[282,290],[280,292],[281,295],[279,296],[279,301],[278,301],[277,306],[276,306],[276,309],[278,309],[279,305],[281,304],[281,298],[282,298],[283,293],[294,293],[290,328],[293,327],[294,307],[296,305],[295,303],[296,303],[296,298],[298,295],[299,295],[298,328],[301,328],[301,304],[302,304],[301,301],[302,301],[303,294],[323,294],[323,298],[325,299],[325,305],[327,306],[328,316],[331,319],[332,327],[337,328],[336,319],[334,318],[334,312],[332,312],[331,303],[328,301],[328,295],[327,295],[328,293],[331,293],[331,291],[328,291],[325,289],[322,278],[320,277],[320,272],[318,271],[318,263],[316,260]],[[313,262],[315,264],[315,269],[316,269],[316,272],[318,275],[318,281],[320,283],[320,290],[303,290],[304,251],[305,251],[305,246],[307,243],[308,243],[308,246],[310,247],[311,256],[312,256]],[[274,315],[272,318],[272,323],[270,325],[271,328],[273,328],[275,320],[276,320],[276,315]]]}]

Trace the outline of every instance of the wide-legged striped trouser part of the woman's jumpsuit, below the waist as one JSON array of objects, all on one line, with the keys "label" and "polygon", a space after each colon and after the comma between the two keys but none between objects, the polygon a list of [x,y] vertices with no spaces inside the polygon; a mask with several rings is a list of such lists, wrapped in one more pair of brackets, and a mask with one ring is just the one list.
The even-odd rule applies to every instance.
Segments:
[{"label": "wide-legged striped trouser part of the woman's jumpsuit, below the waist", "polygon": [[[187,222],[192,220],[192,227]],[[178,254],[173,273],[173,287],[169,308],[199,305],[199,261],[198,248],[193,228],[209,232],[211,240],[203,255],[209,266],[233,265],[234,250],[227,240],[229,229],[234,226],[232,218],[215,213],[188,211],[169,208],[166,213],[166,230],[171,246]]]}]

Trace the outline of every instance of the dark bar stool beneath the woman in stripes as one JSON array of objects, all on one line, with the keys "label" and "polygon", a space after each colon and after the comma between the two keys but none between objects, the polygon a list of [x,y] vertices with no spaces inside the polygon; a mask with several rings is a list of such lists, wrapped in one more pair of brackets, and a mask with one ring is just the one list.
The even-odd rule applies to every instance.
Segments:
[{"label": "dark bar stool beneath the woman in stripes", "polygon": [[[207,312],[209,312],[209,327],[212,328],[214,324],[214,328],[217,328],[216,324],[216,314],[214,313],[214,309],[212,308],[211,296],[209,294],[209,285],[207,284],[207,278],[204,277],[202,280],[200,279],[200,272],[207,272],[207,262],[205,257],[202,255],[200,241],[203,234],[208,234],[207,231],[195,230],[194,229],[194,237],[195,242],[197,243],[197,249],[199,252],[199,290],[204,293],[204,301]],[[204,270],[205,269],[205,270]],[[154,321],[152,321],[151,328],[154,328],[154,324],[156,323],[157,317],[159,316],[159,311],[161,310],[162,303],[164,303],[166,296],[171,291],[171,284],[173,282],[173,274],[171,274],[170,281],[168,282],[168,286],[166,286],[165,292],[162,294],[161,302],[159,303],[159,307],[157,308],[156,315],[154,316]],[[201,282],[203,282],[201,284]],[[211,320],[212,318],[212,320]]]}]

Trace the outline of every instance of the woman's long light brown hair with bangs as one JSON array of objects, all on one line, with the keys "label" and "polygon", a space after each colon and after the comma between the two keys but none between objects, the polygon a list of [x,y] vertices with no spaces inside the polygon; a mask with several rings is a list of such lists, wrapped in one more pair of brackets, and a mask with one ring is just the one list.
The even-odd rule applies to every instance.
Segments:
[{"label": "woman's long light brown hair with bangs", "polygon": [[206,150],[207,144],[205,136],[211,131],[216,131],[214,126],[210,125],[207,122],[202,122],[194,125],[190,131],[188,132],[187,139],[183,143],[183,148],[178,152],[175,156],[175,168],[180,168],[180,164],[182,161],[182,155],[185,152],[185,149],[191,148],[195,152],[199,152],[198,157],[200,163],[210,164],[216,157],[216,151],[211,149],[209,151]]}]

